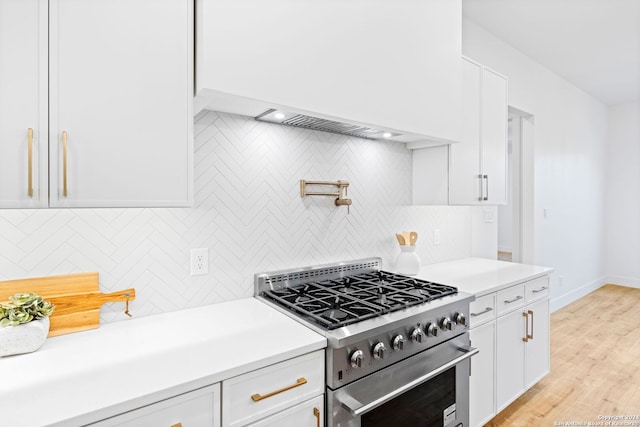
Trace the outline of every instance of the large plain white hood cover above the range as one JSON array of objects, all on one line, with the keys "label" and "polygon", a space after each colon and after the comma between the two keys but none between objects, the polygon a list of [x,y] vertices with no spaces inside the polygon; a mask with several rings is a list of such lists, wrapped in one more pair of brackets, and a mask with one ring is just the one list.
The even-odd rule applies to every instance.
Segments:
[{"label": "large plain white hood cover above the range", "polygon": [[197,0],[196,15],[196,110],[460,141],[460,0]]}]

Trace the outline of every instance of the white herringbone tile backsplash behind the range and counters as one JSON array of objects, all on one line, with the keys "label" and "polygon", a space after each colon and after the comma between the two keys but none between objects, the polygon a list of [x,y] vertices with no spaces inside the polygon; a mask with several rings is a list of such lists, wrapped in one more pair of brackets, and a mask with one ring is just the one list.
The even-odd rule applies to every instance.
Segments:
[{"label": "white herringbone tile backsplash behind the range and counters", "polygon": [[[403,230],[420,233],[423,264],[471,255],[470,208],[409,206],[403,144],[203,111],[194,167],[193,208],[0,210],[0,279],[98,271],[103,292],[136,288],[142,317],[250,297],[257,272],[369,256],[393,268]],[[300,179],[348,180],[350,214],[302,199]],[[205,247],[209,274],[190,276],[191,248]],[[108,304],[102,320],[123,311]]]}]

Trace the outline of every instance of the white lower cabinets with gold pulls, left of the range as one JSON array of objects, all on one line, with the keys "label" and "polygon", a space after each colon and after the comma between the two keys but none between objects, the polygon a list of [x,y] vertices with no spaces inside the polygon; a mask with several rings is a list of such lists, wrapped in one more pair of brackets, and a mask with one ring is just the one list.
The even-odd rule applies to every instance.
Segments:
[{"label": "white lower cabinets with gold pulls, left of the range", "polygon": [[324,350],[90,424],[95,427],[319,427]]}]

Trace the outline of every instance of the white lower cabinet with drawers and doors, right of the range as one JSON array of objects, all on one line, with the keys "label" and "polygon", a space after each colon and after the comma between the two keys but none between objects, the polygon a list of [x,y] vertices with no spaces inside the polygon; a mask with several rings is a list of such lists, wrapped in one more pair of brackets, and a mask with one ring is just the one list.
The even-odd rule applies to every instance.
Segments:
[{"label": "white lower cabinet with drawers and doors, right of the range", "polygon": [[478,297],[470,307],[470,425],[482,426],[549,373],[549,277]]}]

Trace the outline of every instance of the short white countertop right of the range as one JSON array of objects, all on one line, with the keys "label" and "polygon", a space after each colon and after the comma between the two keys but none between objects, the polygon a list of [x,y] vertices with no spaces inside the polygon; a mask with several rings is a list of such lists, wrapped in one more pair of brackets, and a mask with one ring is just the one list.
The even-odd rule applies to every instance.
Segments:
[{"label": "short white countertop right of the range", "polygon": [[552,268],[487,258],[464,258],[422,267],[416,277],[451,285],[477,297],[553,272]]}]

